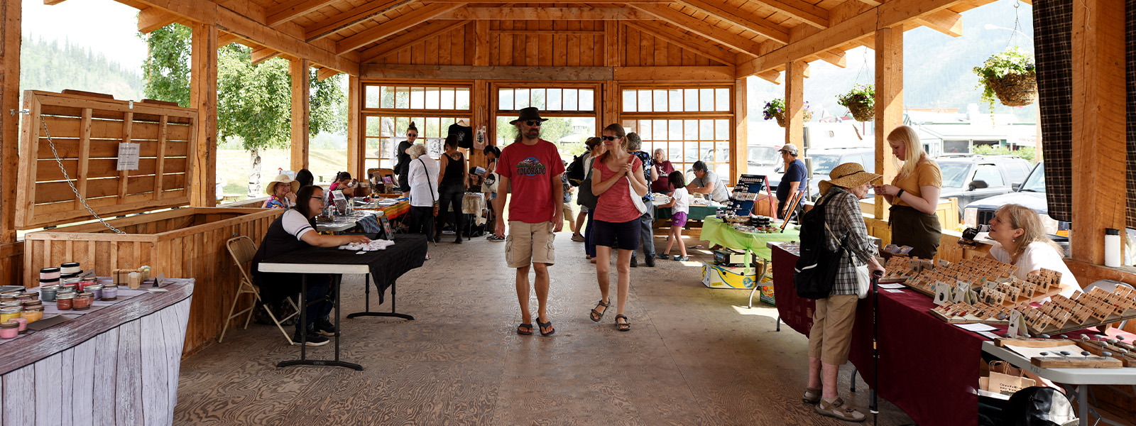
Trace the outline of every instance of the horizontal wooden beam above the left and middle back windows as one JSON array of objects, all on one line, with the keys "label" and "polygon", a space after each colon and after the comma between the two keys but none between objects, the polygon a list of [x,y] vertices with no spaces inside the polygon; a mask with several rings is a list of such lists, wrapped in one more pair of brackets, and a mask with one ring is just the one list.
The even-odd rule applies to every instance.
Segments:
[{"label": "horizontal wooden beam above the left and middle back windows", "polygon": [[608,81],[611,67],[510,67],[463,65],[364,65],[364,78]]}]

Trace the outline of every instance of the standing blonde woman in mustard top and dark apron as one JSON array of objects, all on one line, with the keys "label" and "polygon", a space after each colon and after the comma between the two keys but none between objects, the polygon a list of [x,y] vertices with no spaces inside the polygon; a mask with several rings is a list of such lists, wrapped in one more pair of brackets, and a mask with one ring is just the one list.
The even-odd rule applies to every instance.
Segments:
[{"label": "standing blonde woman in mustard top and dark apron", "polygon": [[943,235],[935,216],[943,174],[938,164],[924,152],[913,128],[895,127],[887,134],[887,144],[892,147],[895,156],[892,161],[899,173],[891,185],[876,185],[876,194],[884,195],[892,204],[888,219],[892,244],[909,245],[912,257],[932,259]]}]

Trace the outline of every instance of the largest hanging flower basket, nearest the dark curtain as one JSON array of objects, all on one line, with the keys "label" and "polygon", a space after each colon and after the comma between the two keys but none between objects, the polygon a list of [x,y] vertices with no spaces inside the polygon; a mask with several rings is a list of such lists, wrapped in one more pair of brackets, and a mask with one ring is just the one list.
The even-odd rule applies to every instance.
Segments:
[{"label": "largest hanging flower basket, nearest the dark curtain", "polygon": [[1037,68],[1034,56],[1017,45],[999,52],[975,67],[983,101],[994,111],[994,99],[1009,107],[1022,107],[1037,99]]}]

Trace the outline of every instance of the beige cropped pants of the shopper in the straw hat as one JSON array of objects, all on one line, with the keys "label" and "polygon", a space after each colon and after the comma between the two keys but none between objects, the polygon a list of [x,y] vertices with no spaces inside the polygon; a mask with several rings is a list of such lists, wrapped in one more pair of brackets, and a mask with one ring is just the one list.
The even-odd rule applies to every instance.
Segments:
[{"label": "beige cropped pants of the shopper in the straw hat", "polygon": [[817,299],[809,332],[809,357],[820,362],[841,366],[849,360],[852,346],[852,325],[855,324],[855,294],[833,294]]}]

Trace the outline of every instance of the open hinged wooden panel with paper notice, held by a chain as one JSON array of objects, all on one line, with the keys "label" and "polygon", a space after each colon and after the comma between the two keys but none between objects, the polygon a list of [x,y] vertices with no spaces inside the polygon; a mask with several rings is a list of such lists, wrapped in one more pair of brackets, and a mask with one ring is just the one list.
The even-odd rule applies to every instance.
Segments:
[{"label": "open hinged wooden panel with paper notice, held by a chain", "polygon": [[[40,91],[24,108],[17,228],[93,219],[72,184],[100,216],[189,204],[195,110]],[[122,142],[140,144],[139,169],[117,170]]]}]

